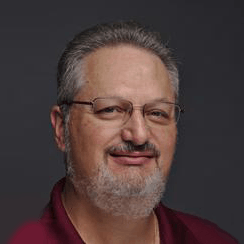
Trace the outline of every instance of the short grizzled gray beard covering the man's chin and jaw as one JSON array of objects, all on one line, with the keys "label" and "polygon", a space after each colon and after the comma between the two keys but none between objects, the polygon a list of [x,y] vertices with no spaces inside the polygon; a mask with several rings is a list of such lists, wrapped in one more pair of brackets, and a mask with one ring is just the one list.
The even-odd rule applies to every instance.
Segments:
[{"label": "short grizzled gray beard covering the man's chin and jaw", "polygon": [[[145,176],[136,166],[130,167],[121,174],[115,174],[110,170],[107,161],[104,160],[97,165],[92,176],[87,177],[75,169],[67,138],[66,142],[67,176],[75,190],[88,197],[94,206],[114,216],[123,216],[129,219],[149,216],[160,202],[165,191],[166,180],[158,162],[155,169]],[[140,146],[139,150],[152,149],[152,147],[151,144],[148,144],[143,148]],[[115,148],[112,147],[111,150],[114,151]],[[120,150],[122,148],[129,151],[135,149],[131,145],[119,146]],[[156,153],[159,154],[158,151],[155,152],[155,155]]]}]

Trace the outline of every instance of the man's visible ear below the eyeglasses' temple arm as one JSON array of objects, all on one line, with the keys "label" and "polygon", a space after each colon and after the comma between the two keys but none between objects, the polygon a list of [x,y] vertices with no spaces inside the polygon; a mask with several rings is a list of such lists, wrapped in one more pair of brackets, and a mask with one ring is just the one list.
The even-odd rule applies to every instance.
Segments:
[{"label": "man's visible ear below the eyeglasses' temple arm", "polygon": [[64,119],[60,107],[55,105],[50,112],[51,124],[53,127],[54,139],[58,148],[65,151],[65,138],[64,138]]}]

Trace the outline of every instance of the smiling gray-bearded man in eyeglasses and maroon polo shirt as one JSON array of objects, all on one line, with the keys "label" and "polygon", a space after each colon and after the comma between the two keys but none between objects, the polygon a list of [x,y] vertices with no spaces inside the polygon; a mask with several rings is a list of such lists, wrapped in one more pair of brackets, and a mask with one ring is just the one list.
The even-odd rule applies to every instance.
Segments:
[{"label": "smiling gray-bearded man in eyeglasses and maroon polo shirt", "polygon": [[11,243],[232,244],[214,224],[160,202],[176,144],[178,72],[134,22],[78,34],[58,65],[51,123],[66,177]]}]

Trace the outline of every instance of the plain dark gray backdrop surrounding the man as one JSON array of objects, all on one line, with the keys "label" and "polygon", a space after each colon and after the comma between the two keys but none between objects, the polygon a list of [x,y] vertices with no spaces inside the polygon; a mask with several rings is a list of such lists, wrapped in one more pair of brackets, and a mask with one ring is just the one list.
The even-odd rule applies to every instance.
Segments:
[{"label": "plain dark gray backdrop surrounding the man", "polygon": [[2,2],[0,243],[64,175],[49,122],[62,49],[80,30],[121,19],[160,31],[179,60],[186,113],[164,202],[244,243],[243,15],[242,0]]}]

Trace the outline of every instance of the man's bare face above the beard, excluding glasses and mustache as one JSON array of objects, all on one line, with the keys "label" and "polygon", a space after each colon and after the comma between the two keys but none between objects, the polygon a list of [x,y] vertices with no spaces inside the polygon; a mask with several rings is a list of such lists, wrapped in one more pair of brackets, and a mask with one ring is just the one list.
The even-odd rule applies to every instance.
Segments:
[{"label": "man's bare face above the beard, excluding glasses and mustache", "polygon": [[[143,49],[128,45],[101,48],[87,56],[85,64],[87,83],[75,97],[76,101],[116,96],[131,101],[134,106],[155,99],[174,102],[164,64]],[[176,125],[149,127],[141,111],[136,109],[126,124],[110,127],[96,118],[89,106],[73,105],[69,140],[73,168],[85,177],[92,176],[100,164],[105,164],[114,175],[125,176],[135,173],[146,177],[158,167],[166,178],[175,149]],[[128,141],[135,145],[149,142],[159,150],[160,156],[132,158],[108,153],[111,147]]]}]

